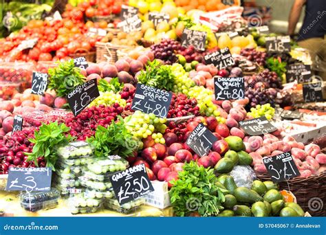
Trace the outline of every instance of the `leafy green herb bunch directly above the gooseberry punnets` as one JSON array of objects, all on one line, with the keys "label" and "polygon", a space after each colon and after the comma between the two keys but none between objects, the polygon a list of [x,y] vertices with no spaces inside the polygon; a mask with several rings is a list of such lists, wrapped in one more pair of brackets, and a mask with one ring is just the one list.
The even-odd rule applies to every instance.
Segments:
[{"label": "leafy green herb bunch directly above the gooseberry punnets", "polygon": [[138,150],[140,144],[138,139],[127,131],[122,117],[119,117],[119,120],[119,122],[112,121],[107,128],[98,126],[95,135],[86,139],[89,144],[94,145],[96,157],[109,155],[130,157],[135,150]]}]

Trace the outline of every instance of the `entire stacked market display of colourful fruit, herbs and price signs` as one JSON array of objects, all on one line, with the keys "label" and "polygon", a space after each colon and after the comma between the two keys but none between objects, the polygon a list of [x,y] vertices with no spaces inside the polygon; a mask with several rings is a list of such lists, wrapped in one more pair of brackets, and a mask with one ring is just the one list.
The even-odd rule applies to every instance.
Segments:
[{"label": "entire stacked market display of colourful fruit, herbs and price signs", "polygon": [[[51,187],[21,192],[25,211],[325,216],[309,201],[325,201],[325,113],[292,99],[323,102],[322,80],[319,99],[302,89],[312,76],[286,84],[287,65],[309,58],[270,52],[276,34],[246,26],[239,1],[217,2],[83,1],[2,38],[0,190],[13,168],[50,168]],[[122,32],[131,16],[141,24]]]}]

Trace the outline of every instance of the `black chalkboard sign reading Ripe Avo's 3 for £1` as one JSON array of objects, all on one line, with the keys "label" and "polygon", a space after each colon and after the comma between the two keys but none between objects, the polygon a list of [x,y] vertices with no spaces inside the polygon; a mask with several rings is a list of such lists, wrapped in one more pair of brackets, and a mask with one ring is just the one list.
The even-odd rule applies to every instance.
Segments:
[{"label": "black chalkboard sign reading Ripe Avo's 3 for \u00a31", "polygon": [[296,168],[291,152],[280,153],[272,157],[264,157],[263,164],[274,183],[287,181],[301,175],[298,168]]}]

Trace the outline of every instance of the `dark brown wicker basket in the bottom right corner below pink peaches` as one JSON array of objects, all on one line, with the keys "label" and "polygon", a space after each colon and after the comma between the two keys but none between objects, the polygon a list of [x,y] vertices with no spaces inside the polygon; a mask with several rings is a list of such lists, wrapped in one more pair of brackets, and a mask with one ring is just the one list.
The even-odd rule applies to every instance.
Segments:
[{"label": "dark brown wicker basket in the bottom right corner below pink peaches", "polygon": [[[261,181],[270,180],[270,175],[256,172]],[[294,178],[279,183],[280,190],[290,190],[303,211],[312,216],[325,216],[326,172],[308,178]]]}]

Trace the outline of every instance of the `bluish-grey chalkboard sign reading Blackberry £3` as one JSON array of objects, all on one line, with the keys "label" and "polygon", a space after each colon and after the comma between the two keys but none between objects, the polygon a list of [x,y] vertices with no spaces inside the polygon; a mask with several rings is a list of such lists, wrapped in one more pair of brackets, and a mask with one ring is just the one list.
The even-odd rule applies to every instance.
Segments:
[{"label": "bluish-grey chalkboard sign reading Blackberry \u00a33", "polygon": [[52,169],[45,168],[9,168],[8,191],[49,191]]}]

